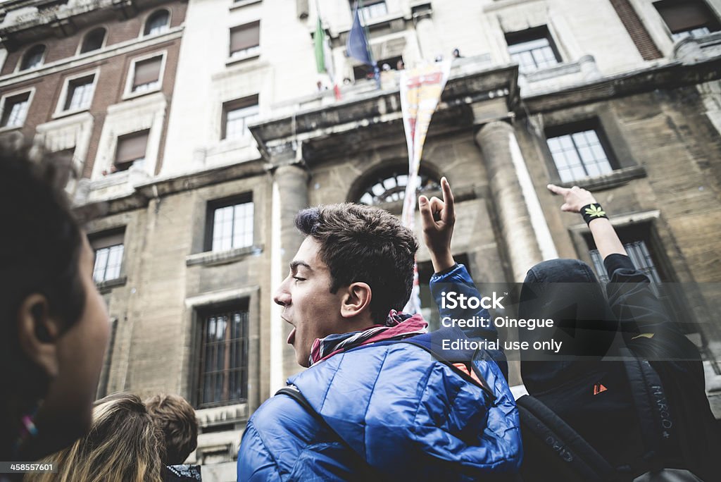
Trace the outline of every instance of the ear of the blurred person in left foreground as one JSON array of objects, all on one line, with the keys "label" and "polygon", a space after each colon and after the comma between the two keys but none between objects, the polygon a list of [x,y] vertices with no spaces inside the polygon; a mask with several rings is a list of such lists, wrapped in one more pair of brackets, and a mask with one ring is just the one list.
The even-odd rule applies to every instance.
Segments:
[{"label": "ear of the blurred person in left foreground", "polygon": [[34,293],[23,300],[17,311],[20,348],[50,379],[58,375],[57,341],[60,333],[58,320],[50,316],[47,298]]}]

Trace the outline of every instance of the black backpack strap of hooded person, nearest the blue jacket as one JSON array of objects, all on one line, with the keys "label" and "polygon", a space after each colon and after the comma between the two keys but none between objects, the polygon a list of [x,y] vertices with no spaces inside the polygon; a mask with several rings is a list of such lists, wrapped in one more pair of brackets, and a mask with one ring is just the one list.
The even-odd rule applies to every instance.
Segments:
[{"label": "black backpack strap of hooded person, nearest the blue jacket", "polygon": [[523,395],[516,405],[527,449],[521,470],[526,471],[529,480],[541,480],[548,473],[544,468],[549,467],[555,469],[556,481],[609,482],[618,478],[606,459],[543,402]]}]

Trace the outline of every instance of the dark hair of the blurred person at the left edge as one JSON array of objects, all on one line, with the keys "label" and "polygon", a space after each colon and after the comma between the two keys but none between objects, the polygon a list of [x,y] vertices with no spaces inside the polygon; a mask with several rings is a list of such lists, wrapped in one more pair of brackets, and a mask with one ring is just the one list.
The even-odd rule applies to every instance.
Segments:
[{"label": "dark hair of the blurred person at the left edge", "polygon": [[18,382],[28,376],[10,369],[20,356],[15,321],[22,301],[43,294],[65,328],[76,323],[85,304],[82,234],[64,190],[70,170],[68,157],[0,140],[0,353],[6,376]]}]

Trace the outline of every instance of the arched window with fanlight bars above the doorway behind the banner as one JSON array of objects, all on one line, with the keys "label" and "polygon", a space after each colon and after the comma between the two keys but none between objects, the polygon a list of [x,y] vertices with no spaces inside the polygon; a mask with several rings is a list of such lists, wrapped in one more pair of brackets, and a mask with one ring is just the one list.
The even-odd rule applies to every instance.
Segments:
[{"label": "arched window with fanlight bars above the doorway behind the banner", "polygon": [[[402,201],[408,183],[408,167],[406,165],[389,167],[376,171],[363,183],[356,199],[358,203],[374,206],[382,203]],[[440,182],[435,175],[421,168],[418,173],[417,192],[440,189]]]}]

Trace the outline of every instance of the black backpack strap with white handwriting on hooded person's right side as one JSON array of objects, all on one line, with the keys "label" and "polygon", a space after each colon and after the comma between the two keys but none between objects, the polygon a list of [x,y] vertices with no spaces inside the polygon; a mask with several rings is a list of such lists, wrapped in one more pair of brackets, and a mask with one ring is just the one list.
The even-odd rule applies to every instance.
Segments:
[{"label": "black backpack strap with white handwriting on hooded person's right side", "polygon": [[621,354],[627,358],[624,367],[644,444],[644,462],[648,470],[660,470],[673,437],[673,421],[663,385],[647,360],[638,359],[628,349],[622,349]]}]

